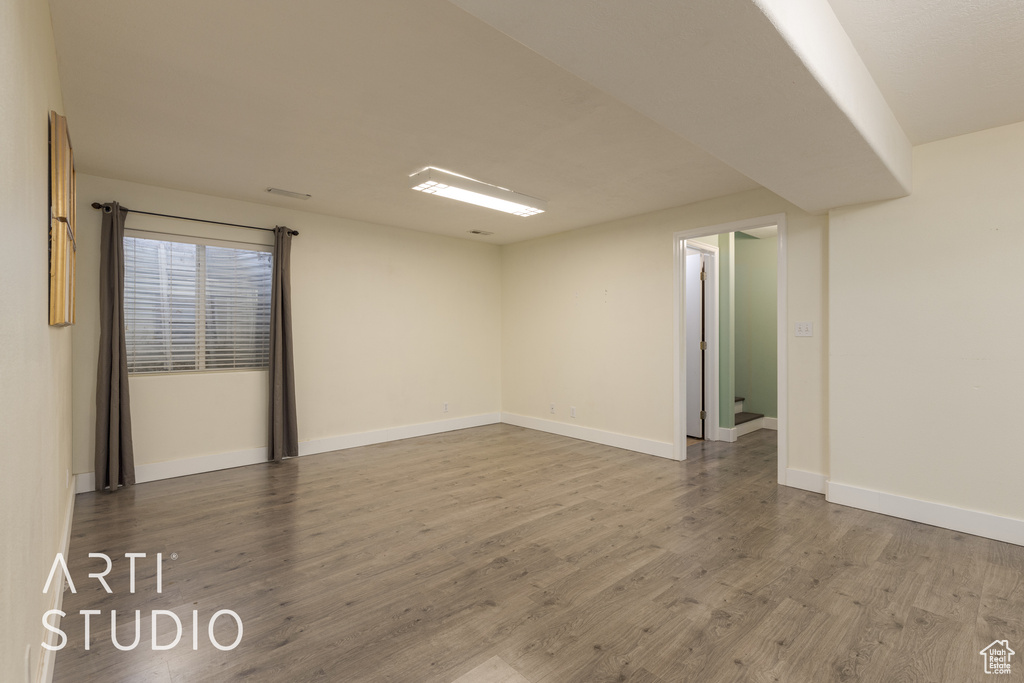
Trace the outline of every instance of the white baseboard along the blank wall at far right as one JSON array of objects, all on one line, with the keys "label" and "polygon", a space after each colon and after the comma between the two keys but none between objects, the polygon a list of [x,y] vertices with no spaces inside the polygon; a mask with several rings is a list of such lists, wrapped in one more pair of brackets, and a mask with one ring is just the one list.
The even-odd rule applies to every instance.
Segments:
[{"label": "white baseboard along the blank wall at far right", "polygon": [[1000,517],[835,481],[828,482],[825,498],[829,503],[1024,546],[1024,519]]}]

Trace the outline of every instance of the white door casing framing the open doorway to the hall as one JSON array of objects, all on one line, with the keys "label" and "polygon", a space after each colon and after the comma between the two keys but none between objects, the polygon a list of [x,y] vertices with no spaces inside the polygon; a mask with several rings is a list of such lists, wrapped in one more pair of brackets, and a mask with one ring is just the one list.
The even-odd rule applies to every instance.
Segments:
[{"label": "white door casing framing the open doorway to the hall", "polygon": [[776,275],[776,336],[777,358],[776,374],[778,381],[778,482],[785,484],[785,471],[790,462],[790,382],[788,382],[788,346],[786,334],[788,329],[788,298],[786,294],[786,258],[788,244],[786,242],[785,214],[778,213],[757,218],[736,220],[729,223],[694,227],[679,230],[672,236],[674,292],[673,292],[673,336],[674,336],[674,422],[675,439],[672,444],[673,458],[686,460],[686,310],[685,310],[685,268],[686,241],[694,238],[706,238],[723,232],[737,232],[756,227],[778,226],[777,275]]}]

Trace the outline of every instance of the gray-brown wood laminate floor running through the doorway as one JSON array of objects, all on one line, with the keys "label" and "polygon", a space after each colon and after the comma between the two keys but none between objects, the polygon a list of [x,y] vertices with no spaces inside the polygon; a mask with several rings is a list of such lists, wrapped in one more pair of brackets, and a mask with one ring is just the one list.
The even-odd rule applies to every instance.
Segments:
[{"label": "gray-brown wood laminate floor running through the doorway", "polygon": [[79,496],[54,680],[961,683],[1024,652],[1024,548],[778,486],[771,431],[687,457],[494,425]]}]

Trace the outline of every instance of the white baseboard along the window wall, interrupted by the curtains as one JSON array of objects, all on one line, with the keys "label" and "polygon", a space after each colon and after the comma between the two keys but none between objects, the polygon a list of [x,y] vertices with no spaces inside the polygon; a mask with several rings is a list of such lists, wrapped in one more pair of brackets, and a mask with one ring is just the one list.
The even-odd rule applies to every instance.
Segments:
[{"label": "white baseboard along the window wall, interrupted by the curtains", "polygon": [[[299,455],[311,456],[318,453],[330,453],[331,451],[353,449],[359,445],[372,445],[374,443],[384,443],[385,441],[396,441],[398,439],[412,438],[414,436],[426,436],[428,434],[439,434],[441,432],[455,431],[457,429],[468,429],[469,427],[493,425],[499,422],[501,422],[501,415],[499,413],[486,413],[483,415],[473,415],[465,418],[454,418],[451,420],[439,420],[437,422],[425,422],[416,425],[379,429],[358,434],[331,436],[328,438],[300,441]],[[182,460],[169,460],[162,463],[136,465],[135,482],[144,483],[146,481],[158,481],[160,479],[173,479],[174,477],[187,476],[189,474],[226,470],[232,467],[257,465],[259,463],[266,462],[266,447],[247,449],[245,451],[232,451],[230,453],[218,453],[209,456],[185,458]],[[77,493],[84,494],[95,489],[96,478],[94,473],[85,472],[83,474],[76,475],[76,477]]]}]

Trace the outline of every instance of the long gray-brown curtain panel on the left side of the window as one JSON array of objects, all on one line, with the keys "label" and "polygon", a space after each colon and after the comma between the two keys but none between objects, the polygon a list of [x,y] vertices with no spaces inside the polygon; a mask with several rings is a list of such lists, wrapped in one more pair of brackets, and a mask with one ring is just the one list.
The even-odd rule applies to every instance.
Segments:
[{"label": "long gray-brown curtain panel on the left side of the window", "polygon": [[103,205],[99,257],[99,362],[96,370],[96,490],[135,483],[125,349],[125,216]]}]

